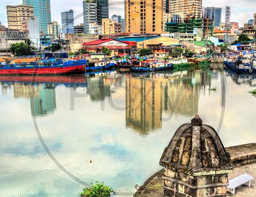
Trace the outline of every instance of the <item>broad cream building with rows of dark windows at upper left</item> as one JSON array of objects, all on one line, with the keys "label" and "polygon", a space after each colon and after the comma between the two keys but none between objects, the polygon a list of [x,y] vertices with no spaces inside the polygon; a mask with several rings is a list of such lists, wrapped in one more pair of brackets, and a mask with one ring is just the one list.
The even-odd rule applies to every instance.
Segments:
[{"label": "broad cream building with rows of dark windows at upper left", "polygon": [[6,5],[8,28],[22,30],[22,21],[34,18],[33,5]]}]

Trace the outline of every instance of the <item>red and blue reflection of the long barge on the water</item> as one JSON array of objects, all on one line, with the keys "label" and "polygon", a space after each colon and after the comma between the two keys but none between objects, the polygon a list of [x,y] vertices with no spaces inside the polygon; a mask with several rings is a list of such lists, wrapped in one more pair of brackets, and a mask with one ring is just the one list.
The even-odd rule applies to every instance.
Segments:
[{"label": "red and blue reflection of the long barge on the water", "polygon": [[0,76],[1,83],[24,83],[24,84],[63,84],[67,87],[87,86],[84,75],[72,76]]}]

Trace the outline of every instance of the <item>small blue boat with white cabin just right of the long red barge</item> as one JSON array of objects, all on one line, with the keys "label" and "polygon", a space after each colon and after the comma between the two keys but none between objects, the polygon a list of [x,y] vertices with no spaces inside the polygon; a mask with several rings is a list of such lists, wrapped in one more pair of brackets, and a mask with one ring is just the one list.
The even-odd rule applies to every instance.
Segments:
[{"label": "small blue boat with white cabin just right of the long red barge", "polygon": [[92,72],[95,70],[108,70],[114,67],[116,67],[115,60],[89,62],[86,65],[86,72]]}]

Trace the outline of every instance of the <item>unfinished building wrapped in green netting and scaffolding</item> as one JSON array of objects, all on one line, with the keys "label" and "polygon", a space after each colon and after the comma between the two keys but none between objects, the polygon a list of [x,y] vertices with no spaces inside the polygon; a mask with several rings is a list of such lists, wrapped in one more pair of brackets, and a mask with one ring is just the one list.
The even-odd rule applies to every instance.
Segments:
[{"label": "unfinished building wrapped in green netting and scaffolding", "polygon": [[169,22],[165,24],[165,31],[169,33],[195,33],[202,38],[212,36],[214,30],[213,19],[192,18],[189,22]]}]

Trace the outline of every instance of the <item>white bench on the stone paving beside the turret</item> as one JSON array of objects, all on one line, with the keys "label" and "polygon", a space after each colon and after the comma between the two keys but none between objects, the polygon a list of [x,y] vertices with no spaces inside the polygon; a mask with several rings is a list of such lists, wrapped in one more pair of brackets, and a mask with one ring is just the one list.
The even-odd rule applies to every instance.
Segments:
[{"label": "white bench on the stone paving beside the turret", "polygon": [[246,183],[248,183],[248,186],[251,186],[251,181],[254,178],[248,174],[243,174],[239,177],[233,178],[229,181],[229,186],[227,186],[227,191],[232,193],[233,195],[235,194],[235,189],[238,186],[244,185]]}]

